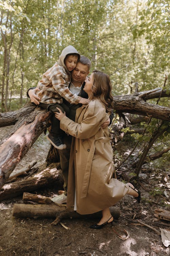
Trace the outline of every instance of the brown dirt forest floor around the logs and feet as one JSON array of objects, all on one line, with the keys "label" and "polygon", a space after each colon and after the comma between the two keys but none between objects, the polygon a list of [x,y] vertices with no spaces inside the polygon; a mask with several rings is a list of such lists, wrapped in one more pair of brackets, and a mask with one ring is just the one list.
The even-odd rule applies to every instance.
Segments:
[{"label": "brown dirt forest floor around the logs and feet", "polygon": [[[0,128],[0,136],[10,127]],[[37,166],[45,162],[49,142],[44,134],[38,138],[31,150],[22,159],[17,169],[24,167],[32,160],[37,160]],[[116,146],[121,154],[127,152],[122,145]],[[170,230],[170,223],[159,221],[154,217],[155,208],[169,209],[164,203],[165,195],[153,196],[149,192],[153,187],[160,185],[158,175],[146,170],[141,173],[143,177],[151,177],[149,184],[145,183],[141,190],[141,203],[126,195],[116,206],[120,207],[121,214],[118,221],[114,221],[113,228],[104,226],[101,230],[92,230],[91,224],[96,219],[63,219],[61,224],[50,225],[54,219],[20,219],[12,217],[14,203],[23,203],[22,196],[0,202],[0,256],[164,256],[170,255],[170,246],[167,248],[161,241],[161,236],[146,226],[141,226],[137,220],[159,228]],[[168,176],[168,175],[167,175]],[[142,183],[143,184],[143,183]],[[161,185],[160,185],[161,186]],[[166,183],[164,190],[169,193],[170,184]],[[145,188],[145,189],[144,189]],[[49,196],[54,190],[33,191],[33,193]],[[56,188],[57,192],[57,188]],[[126,240],[120,239],[126,236],[124,229],[130,233]]]}]

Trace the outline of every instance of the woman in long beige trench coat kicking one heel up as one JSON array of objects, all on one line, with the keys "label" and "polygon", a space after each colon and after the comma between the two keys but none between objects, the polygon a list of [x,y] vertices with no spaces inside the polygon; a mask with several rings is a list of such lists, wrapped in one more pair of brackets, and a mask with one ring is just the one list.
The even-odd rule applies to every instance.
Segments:
[{"label": "woman in long beige trench coat kicking one heel up", "polygon": [[60,109],[55,117],[60,120],[60,128],[75,137],[69,162],[67,208],[74,205],[74,210],[80,214],[102,211],[99,223],[90,226],[100,229],[113,222],[109,207],[126,194],[140,202],[140,192],[131,183],[124,184],[112,178],[111,138],[108,128],[101,127],[113,109],[109,76],[95,70],[85,82],[84,91],[90,101],[77,109],[75,122]]}]

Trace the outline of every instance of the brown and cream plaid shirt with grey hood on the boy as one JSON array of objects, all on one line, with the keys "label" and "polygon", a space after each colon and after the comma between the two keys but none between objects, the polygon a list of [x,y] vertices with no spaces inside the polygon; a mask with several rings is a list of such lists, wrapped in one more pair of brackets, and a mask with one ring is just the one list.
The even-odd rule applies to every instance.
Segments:
[{"label": "brown and cream plaid shirt with grey hood on the boy", "polygon": [[71,45],[64,48],[58,62],[48,69],[43,74],[42,79],[38,82],[37,88],[39,88],[40,91],[36,91],[36,95],[41,99],[41,103],[61,104],[63,102],[62,97],[71,104],[78,104],[81,100],[80,96],[72,94],[68,88],[71,81],[71,75],[64,64],[64,59],[67,54],[71,53],[79,54]]}]

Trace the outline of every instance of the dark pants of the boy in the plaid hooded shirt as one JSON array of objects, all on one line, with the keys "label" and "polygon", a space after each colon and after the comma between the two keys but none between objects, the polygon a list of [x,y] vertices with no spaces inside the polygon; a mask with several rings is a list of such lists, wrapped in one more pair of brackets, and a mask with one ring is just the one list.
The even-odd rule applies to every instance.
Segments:
[{"label": "dark pants of the boy in the plaid hooded shirt", "polygon": [[[70,109],[65,103],[51,103],[51,104],[46,104],[46,103],[39,103],[39,106],[43,109],[47,109],[48,111],[52,111],[53,113],[59,112],[58,109],[61,109],[61,111],[64,113],[66,112],[66,116],[69,115]],[[50,130],[50,135],[53,137],[57,137],[58,135],[63,135],[64,131],[60,129],[60,121],[55,118],[55,115],[53,114],[51,117],[51,130]]]}]

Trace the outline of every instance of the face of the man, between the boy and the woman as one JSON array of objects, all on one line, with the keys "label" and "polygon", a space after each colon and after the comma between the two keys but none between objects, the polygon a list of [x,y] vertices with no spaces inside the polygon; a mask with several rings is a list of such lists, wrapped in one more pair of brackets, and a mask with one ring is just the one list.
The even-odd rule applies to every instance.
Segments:
[{"label": "face of the man, between the boy and the woman", "polygon": [[71,71],[71,82],[83,83],[88,73],[88,66],[78,62],[76,67]]}]

